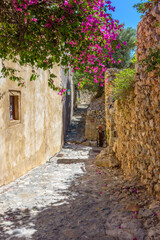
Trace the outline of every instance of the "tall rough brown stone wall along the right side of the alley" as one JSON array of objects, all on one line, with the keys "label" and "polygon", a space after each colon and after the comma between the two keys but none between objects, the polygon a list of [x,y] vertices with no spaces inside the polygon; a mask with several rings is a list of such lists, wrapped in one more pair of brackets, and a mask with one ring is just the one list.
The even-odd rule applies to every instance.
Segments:
[{"label": "tall rough brown stone wall along the right side of the alley", "polygon": [[[160,76],[158,66],[147,72],[141,60],[149,48],[160,49],[160,4],[137,28],[137,59],[134,95],[114,100],[114,69],[106,73],[106,152],[118,160],[127,177],[137,176],[160,199]],[[106,158],[107,159],[107,158]]]}]

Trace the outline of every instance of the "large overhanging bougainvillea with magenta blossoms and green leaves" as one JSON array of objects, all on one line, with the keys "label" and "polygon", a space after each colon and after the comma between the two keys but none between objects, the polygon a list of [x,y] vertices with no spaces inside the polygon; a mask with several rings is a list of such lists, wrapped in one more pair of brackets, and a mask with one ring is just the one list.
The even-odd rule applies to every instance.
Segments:
[{"label": "large overhanging bougainvillea with magenta blossoms and green leaves", "polygon": [[[103,85],[106,60],[114,62],[112,53],[121,47],[116,39],[122,26],[111,11],[111,1],[105,0],[1,0],[0,58],[3,64],[12,60],[34,69],[50,70],[54,64],[79,69]],[[24,84],[14,69],[4,65],[2,72]],[[57,89],[54,77],[51,73],[48,84]]]}]

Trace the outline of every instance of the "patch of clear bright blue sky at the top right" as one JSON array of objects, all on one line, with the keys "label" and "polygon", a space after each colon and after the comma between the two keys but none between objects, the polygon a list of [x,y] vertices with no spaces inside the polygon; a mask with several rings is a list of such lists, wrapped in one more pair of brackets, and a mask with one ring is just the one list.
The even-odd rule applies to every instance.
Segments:
[{"label": "patch of clear bright blue sky at the top right", "polygon": [[112,6],[116,7],[112,13],[114,19],[118,19],[120,23],[125,23],[125,27],[137,28],[140,22],[140,14],[137,13],[133,5],[140,0],[111,0]]}]

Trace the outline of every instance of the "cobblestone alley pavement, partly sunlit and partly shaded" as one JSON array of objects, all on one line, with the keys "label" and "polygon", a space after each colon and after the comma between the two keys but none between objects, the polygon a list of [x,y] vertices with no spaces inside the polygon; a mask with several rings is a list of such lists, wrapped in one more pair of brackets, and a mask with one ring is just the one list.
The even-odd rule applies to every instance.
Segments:
[{"label": "cobblestone alley pavement, partly sunlit and partly shaded", "polygon": [[85,112],[58,154],[0,188],[0,240],[160,240],[160,203],[119,169],[95,167],[100,148],[77,143]]}]

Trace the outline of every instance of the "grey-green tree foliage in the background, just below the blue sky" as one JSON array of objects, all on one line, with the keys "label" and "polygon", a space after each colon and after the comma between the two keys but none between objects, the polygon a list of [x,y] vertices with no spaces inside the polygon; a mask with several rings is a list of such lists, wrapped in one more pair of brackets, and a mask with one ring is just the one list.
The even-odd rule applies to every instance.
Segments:
[{"label": "grey-green tree foliage in the background, just below the blue sky", "polygon": [[[119,32],[117,40],[120,42],[121,48],[116,48],[115,53],[113,54],[113,59],[116,61],[116,63],[108,64],[108,62],[106,62],[106,66],[112,66],[118,69],[127,68],[132,58],[132,53],[136,48],[136,30],[131,27],[123,28]],[[127,44],[123,45],[123,42],[126,42]],[[117,63],[118,60],[120,60],[121,62]]]}]

